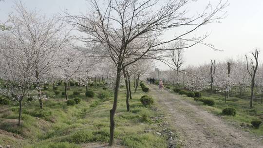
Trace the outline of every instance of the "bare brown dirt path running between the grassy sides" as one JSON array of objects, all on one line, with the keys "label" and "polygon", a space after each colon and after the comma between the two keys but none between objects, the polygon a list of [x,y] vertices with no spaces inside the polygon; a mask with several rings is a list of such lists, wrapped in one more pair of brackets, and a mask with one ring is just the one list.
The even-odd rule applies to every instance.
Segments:
[{"label": "bare brown dirt path running between the grassy sides", "polygon": [[263,148],[258,138],[192,105],[180,95],[160,92],[154,85],[150,85],[150,90],[150,95],[168,113],[169,124],[178,131],[184,148]]}]

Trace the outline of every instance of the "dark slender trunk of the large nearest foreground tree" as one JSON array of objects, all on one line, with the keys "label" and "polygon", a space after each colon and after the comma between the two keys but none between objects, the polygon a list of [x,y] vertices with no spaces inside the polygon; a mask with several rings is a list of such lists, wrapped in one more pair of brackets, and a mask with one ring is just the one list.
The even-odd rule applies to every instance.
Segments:
[{"label": "dark slender trunk of the large nearest foreground tree", "polygon": [[113,109],[110,111],[110,142],[109,146],[113,146],[113,136],[114,136],[114,128],[115,128],[115,122],[114,122],[114,114],[117,108],[117,100],[118,100],[118,93],[119,93],[119,87],[120,87],[120,78],[121,78],[121,68],[117,68],[117,75],[116,75],[116,83],[114,87],[114,101],[113,101]]}]

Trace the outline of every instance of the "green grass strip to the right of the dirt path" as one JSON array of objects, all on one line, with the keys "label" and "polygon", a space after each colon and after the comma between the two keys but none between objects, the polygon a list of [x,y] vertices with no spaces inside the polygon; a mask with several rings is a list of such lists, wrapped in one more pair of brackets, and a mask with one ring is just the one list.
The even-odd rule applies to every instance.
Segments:
[{"label": "green grass strip to the right of the dirt path", "polygon": [[[172,87],[171,87],[172,88]],[[175,93],[175,92],[174,92]],[[185,96],[188,100],[192,101],[195,105],[200,105],[207,111],[210,111],[216,115],[222,116],[226,121],[233,123],[236,126],[241,126],[242,129],[253,133],[256,136],[263,136],[263,125],[259,129],[252,128],[250,122],[253,119],[260,119],[263,121],[263,105],[261,100],[253,101],[253,109],[249,109],[249,92],[246,92],[241,97],[238,95],[239,92],[231,92],[230,97],[226,98],[220,93],[209,93],[202,92],[204,98],[210,98],[215,101],[215,105],[205,106],[203,102],[194,101],[193,98]],[[260,98],[260,94],[256,93],[256,98]],[[236,116],[225,116],[222,115],[222,110],[226,107],[234,107],[237,111]]]}]

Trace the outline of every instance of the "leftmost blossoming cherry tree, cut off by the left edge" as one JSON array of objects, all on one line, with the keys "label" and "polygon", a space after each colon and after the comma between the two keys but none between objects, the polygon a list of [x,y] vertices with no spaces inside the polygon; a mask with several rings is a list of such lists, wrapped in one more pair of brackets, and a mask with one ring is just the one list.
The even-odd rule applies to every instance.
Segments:
[{"label": "leftmost blossoming cherry tree, cut off by the left edge", "polygon": [[34,80],[35,65],[33,53],[28,45],[11,33],[0,34],[0,77],[6,88],[2,93],[19,102],[20,125],[22,100],[27,95]]}]

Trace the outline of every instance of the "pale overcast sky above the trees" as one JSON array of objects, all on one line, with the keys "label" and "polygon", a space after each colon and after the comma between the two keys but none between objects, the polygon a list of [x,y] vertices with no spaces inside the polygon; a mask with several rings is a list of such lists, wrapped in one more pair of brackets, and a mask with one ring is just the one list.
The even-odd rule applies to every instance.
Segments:
[{"label": "pale overcast sky above the trees", "polygon": [[[4,0],[0,2],[0,21],[7,19],[8,13],[12,12],[14,1]],[[39,13],[51,16],[62,13],[63,10],[71,14],[86,12],[88,3],[85,0],[21,0],[27,8],[36,9]],[[203,8],[209,0],[199,0],[189,5],[188,9]],[[218,0],[210,0],[212,3]],[[185,65],[199,65],[210,62],[210,59],[225,60],[237,58],[253,51],[255,48],[263,50],[263,0],[229,0],[229,6],[225,9],[227,17],[222,23],[213,23],[200,28],[196,34],[211,33],[205,40],[213,44],[223,52],[202,46],[194,46],[185,51]],[[173,36],[169,32],[168,36]],[[263,51],[260,53],[263,62]],[[161,69],[167,69],[163,64],[157,64]]]}]

